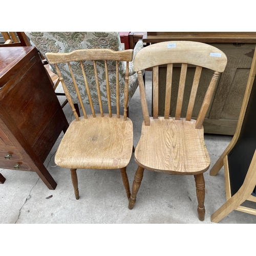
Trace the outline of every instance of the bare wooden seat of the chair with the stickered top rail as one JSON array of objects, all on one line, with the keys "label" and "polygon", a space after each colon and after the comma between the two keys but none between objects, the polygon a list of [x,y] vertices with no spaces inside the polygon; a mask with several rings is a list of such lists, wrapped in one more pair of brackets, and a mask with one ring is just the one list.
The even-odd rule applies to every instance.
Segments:
[{"label": "bare wooden seat of the chair with the stickered top rail", "polygon": [[141,138],[135,150],[137,164],[167,174],[196,175],[210,166],[204,143],[204,130],[195,129],[196,120],[185,118],[150,118],[142,125]]}]

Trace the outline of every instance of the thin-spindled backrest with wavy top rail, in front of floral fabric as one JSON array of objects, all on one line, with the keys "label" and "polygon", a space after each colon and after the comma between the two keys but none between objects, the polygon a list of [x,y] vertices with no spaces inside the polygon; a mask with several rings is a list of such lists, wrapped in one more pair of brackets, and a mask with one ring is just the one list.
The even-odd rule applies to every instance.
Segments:
[{"label": "thin-spindled backrest with wavy top rail, in front of floral fabric", "polygon": [[[76,93],[76,96],[81,104],[82,112],[84,118],[87,119],[87,113],[83,105],[81,92],[86,92],[89,103],[91,106],[91,111],[93,117],[95,117],[94,110],[94,101],[92,98],[93,93],[97,92],[97,105],[99,105],[100,115],[103,117],[103,108],[102,108],[102,98],[100,90],[100,78],[98,76],[98,69],[104,69],[104,76],[106,80],[106,94],[107,94],[107,103],[109,109],[109,116],[112,117],[112,101],[111,101],[111,92],[116,92],[116,106],[117,106],[117,118],[120,118],[120,108],[119,108],[119,99],[120,99],[120,79],[119,79],[119,62],[126,62],[125,69],[125,86],[124,86],[124,120],[127,117],[127,104],[128,104],[128,80],[129,80],[129,61],[133,60],[133,50],[125,51],[113,51],[110,49],[84,49],[84,50],[75,50],[71,53],[46,53],[46,57],[51,65],[54,65],[59,79],[62,83],[63,90],[67,96],[67,99],[71,105],[72,111],[75,115],[77,121],[79,117],[74,108],[74,102],[71,97],[71,93]],[[93,63],[93,70],[91,69],[91,62]],[[63,76],[66,75],[66,70],[63,70],[64,65],[68,65],[70,75],[72,77],[73,85],[67,83]],[[94,76],[95,83],[89,83],[91,78]],[[114,79],[114,81],[113,81]],[[83,80],[83,82],[81,82]],[[80,81],[80,84],[84,84],[85,88],[78,88],[77,81]],[[115,86],[115,87],[113,87]],[[86,89],[86,90],[84,90]],[[113,96],[113,93],[112,93]]]}]

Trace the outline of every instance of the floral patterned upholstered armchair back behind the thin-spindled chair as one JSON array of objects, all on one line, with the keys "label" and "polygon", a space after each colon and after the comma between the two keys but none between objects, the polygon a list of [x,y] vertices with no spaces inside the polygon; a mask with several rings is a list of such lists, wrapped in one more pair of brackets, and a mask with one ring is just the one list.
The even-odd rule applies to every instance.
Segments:
[{"label": "floral patterned upholstered armchair back behind the thin-spindled chair", "polygon": [[[71,52],[78,49],[92,49],[92,48],[109,48],[114,51],[121,51],[121,41],[119,32],[25,32],[30,38],[32,46],[35,46],[42,56],[45,56],[47,52]],[[137,42],[134,49],[134,56],[138,51],[143,48],[143,42],[140,40]],[[100,93],[102,104],[108,104],[106,97],[106,82],[105,82],[105,67],[104,61],[97,61],[98,78],[100,83]],[[76,78],[77,86],[80,90],[81,97],[84,103],[89,104],[87,92],[84,87],[84,81],[81,75],[78,62],[72,62],[71,67]],[[73,98],[74,103],[78,103],[76,92],[73,86],[70,70],[65,63],[58,64],[58,68],[61,71],[63,80],[69,89],[70,95]],[[84,61],[84,68],[86,71],[89,87],[91,90],[91,96],[94,104],[98,104],[98,96],[96,90],[96,83],[94,79],[94,68],[92,61]],[[123,93],[124,93],[124,78],[125,78],[126,62],[119,61],[119,84],[120,84],[120,104],[123,105]],[[56,73],[55,67],[51,66],[51,69]],[[109,80],[111,89],[111,102],[112,105],[116,105],[116,62],[108,61]],[[129,62],[129,101],[134,95],[138,87],[138,76],[133,68],[133,61]]]}]

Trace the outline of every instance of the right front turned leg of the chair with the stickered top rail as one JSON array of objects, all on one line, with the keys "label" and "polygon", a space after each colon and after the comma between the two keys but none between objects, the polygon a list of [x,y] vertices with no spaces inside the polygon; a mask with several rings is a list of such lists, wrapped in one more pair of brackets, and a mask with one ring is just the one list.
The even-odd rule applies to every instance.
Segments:
[{"label": "right front turned leg of the chair with the stickered top rail", "polygon": [[205,182],[204,175],[195,175],[196,188],[197,188],[197,201],[198,201],[198,217],[200,221],[204,220],[205,208],[204,208],[204,198],[205,198]]}]

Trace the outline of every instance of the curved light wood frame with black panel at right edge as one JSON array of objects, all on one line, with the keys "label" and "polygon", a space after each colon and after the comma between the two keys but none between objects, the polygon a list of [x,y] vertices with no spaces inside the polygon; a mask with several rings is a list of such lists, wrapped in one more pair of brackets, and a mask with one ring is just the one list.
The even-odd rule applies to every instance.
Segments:
[{"label": "curved light wood frame with black panel at right edge", "polygon": [[[256,53],[254,53],[236,133],[225,151],[210,169],[216,176],[224,166],[226,202],[211,215],[219,222],[233,210],[256,215],[254,208],[242,205],[256,202]],[[254,192],[254,196],[252,195]]]}]

